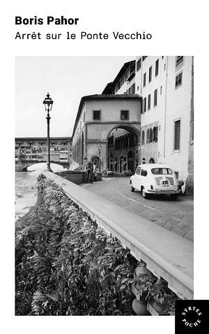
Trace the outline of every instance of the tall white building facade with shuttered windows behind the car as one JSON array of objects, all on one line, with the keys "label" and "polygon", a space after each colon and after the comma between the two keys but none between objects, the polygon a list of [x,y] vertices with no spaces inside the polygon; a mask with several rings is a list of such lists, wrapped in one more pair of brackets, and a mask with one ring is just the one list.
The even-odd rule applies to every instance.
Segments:
[{"label": "tall white building facade with shuttered windows behind the car", "polygon": [[169,164],[185,184],[188,177],[194,184],[192,150],[189,159],[191,117],[194,118],[193,72],[190,56],[139,56],[136,59],[135,85],[143,99],[141,136],[145,137],[141,140],[141,162],[153,159]]}]

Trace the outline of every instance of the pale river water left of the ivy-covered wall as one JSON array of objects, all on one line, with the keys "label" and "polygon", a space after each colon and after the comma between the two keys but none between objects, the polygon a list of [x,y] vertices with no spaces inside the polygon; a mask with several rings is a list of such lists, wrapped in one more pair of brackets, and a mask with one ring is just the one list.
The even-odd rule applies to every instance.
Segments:
[{"label": "pale river water left of the ivy-covered wall", "polygon": [[[27,172],[15,172],[15,221],[29,212],[36,204],[36,181],[46,164],[36,164]],[[62,166],[51,164],[53,171],[65,170]]]}]

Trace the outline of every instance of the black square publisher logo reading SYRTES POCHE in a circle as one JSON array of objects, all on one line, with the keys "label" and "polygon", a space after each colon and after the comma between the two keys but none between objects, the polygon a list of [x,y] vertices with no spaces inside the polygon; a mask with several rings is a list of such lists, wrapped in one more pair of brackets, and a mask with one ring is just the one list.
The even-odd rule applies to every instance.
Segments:
[{"label": "black square publisher logo reading SYRTES POCHE in a circle", "polygon": [[176,300],[175,333],[204,333],[209,300]]}]

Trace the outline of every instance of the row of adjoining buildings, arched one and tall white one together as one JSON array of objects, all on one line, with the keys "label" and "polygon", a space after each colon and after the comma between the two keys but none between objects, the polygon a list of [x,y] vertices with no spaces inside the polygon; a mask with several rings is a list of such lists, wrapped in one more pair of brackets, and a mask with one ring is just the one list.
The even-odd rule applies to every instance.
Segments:
[{"label": "row of adjoining buildings, arched one and tall white one together", "polygon": [[[131,96],[138,96],[137,106],[128,105]],[[103,169],[123,173],[134,171],[137,164],[169,164],[192,192],[194,57],[137,56],[123,65],[96,103],[83,101],[80,108],[72,134],[72,159],[78,164],[86,155],[98,156],[101,142]],[[128,115],[127,110],[134,112]],[[130,120],[138,122],[137,131]]]}]

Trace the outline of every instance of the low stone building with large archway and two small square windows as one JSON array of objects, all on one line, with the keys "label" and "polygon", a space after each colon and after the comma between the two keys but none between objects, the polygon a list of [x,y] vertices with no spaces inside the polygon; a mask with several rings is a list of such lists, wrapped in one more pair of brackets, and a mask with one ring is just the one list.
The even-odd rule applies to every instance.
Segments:
[{"label": "low stone building with large archway and two small square windows", "polygon": [[[100,94],[83,96],[77,112],[72,133],[72,159],[78,166],[84,163],[84,157],[95,161],[101,170],[118,168],[124,170],[127,154],[109,154],[113,133],[121,133],[121,149],[139,147],[140,140],[141,97],[128,94]],[[130,136],[127,137],[127,133]],[[126,139],[125,139],[126,138]],[[119,147],[119,146],[118,146]],[[126,148],[125,148],[126,147]],[[131,153],[130,153],[131,155]],[[139,159],[139,157],[135,157]],[[130,159],[129,159],[130,161]],[[129,162],[130,164],[130,162]]]}]

